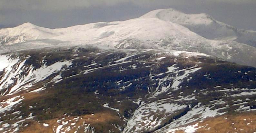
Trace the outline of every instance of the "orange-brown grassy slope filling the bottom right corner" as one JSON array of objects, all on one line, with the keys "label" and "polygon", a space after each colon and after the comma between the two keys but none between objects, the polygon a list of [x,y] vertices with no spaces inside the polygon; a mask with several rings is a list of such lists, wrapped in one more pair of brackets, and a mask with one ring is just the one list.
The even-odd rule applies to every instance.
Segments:
[{"label": "orange-brown grassy slope filling the bottom right corner", "polygon": [[[205,119],[198,123],[195,133],[253,133],[256,132],[256,112],[243,112],[240,114],[228,114],[215,118]],[[175,133],[183,133],[184,130],[177,130]]]}]

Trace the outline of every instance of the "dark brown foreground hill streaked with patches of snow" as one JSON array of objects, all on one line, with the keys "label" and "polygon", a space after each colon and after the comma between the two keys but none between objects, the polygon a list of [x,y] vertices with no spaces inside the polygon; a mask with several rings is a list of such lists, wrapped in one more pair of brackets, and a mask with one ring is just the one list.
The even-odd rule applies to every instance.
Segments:
[{"label": "dark brown foreground hill streaked with patches of snow", "polygon": [[51,48],[0,59],[0,132],[256,130],[253,67],[162,49]]}]

